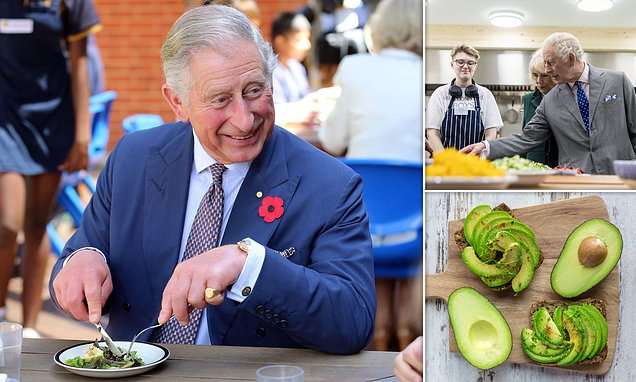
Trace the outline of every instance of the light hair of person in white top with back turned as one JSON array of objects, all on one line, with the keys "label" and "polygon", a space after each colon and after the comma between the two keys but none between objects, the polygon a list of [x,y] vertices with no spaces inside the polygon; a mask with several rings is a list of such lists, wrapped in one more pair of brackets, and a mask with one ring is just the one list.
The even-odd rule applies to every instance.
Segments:
[{"label": "light hair of person in white top with back turned", "polygon": [[369,20],[373,51],[405,49],[422,55],[423,1],[382,0]]}]

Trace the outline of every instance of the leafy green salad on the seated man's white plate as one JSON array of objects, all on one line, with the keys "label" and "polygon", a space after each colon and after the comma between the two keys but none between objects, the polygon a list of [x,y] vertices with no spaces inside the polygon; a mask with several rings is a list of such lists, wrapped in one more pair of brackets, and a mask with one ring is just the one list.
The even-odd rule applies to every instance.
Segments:
[{"label": "leafy green salad on the seated man's white plate", "polygon": [[[119,348],[122,353],[125,349]],[[142,366],[144,361],[137,356],[137,351],[131,351],[130,355],[115,356],[106,346],[99,346],[97,340],[88,346],[83,355],[67,359],[65,364],[84,369],[126,369]]]}]

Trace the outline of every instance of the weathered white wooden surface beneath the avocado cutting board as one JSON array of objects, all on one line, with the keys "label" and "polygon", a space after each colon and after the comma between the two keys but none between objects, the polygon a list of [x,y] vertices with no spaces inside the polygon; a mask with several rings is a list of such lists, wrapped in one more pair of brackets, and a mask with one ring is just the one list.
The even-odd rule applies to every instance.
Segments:
[{"label": "weathered white wooden surface beneath the avocado cutting board", "polygon": [[[600,195],[607,204],[610,221],[623,235],[623,255],[618,264],[621,277],[621,309],[616,354],[604,376],[504,363],[494,369],[479,370],[459,353],[449,351],[448,310],[443,300],[425,304],[426,364],[430,382],[524,382],[524,381],[636,381],[636,193],[630,192],[426,192],[425,273],[445,269],[448,248],[448,221],[462,219],[478,204],[505,202],[519,208],[585,195]],[[558,216],[555,216],[558,219]]]}]

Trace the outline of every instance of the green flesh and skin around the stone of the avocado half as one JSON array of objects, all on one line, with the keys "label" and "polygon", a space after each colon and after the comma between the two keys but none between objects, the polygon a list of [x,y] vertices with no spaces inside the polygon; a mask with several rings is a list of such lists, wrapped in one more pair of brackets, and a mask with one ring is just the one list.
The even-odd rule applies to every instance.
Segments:
[{"label": "green flesh and skin around the stone of the avocado half", "polygon": [[[607,257],[593,268],[584,267],[578,259],[581,241],[596,236],[607,246]],[[550,285],[556,294],[565,298],[577,297],[603,281],[618,264],[623,251],[620,230],[604,219],[589,219],[576,227],[568,236],[559,259],[550,275]],[[589,280],[580,283],[579,280]]]}]

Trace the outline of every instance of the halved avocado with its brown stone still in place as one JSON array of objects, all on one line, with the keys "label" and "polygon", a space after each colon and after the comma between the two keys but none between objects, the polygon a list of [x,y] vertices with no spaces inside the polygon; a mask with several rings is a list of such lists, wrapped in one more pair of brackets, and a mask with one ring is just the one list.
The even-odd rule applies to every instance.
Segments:
[{"label": "halved avocado with its brown stone still in place", "polygon": [[618,228],[603,219],[587,220],[563,245],[550,276],[552,289],[566,298],[588,291],[614,269],[622,252],[623,237]]}]

